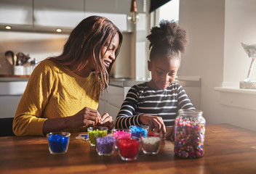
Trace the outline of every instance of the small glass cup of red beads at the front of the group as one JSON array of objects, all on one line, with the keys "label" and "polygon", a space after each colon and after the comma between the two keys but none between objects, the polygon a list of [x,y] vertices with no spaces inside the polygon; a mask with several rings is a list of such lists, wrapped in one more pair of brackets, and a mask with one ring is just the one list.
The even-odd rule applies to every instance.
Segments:
[{"label": "small glass cup of red beads at the front of the group", "polygon": [[140,148],[140,138],[118,138],[119,156],[124,161],[133,161],[137,159]]}]

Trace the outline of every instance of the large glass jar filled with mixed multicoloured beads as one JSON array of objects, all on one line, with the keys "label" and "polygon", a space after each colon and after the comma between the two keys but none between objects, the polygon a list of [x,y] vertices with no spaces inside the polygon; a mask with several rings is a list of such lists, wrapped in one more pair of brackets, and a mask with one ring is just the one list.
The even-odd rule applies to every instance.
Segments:
[{"label": "large glass jar filled with mixed multicoloured beads", "polygon": [[175,154],[183,158],[203,157],[206,123],[203,112],[180,109],[178,113],[175,119]]}]

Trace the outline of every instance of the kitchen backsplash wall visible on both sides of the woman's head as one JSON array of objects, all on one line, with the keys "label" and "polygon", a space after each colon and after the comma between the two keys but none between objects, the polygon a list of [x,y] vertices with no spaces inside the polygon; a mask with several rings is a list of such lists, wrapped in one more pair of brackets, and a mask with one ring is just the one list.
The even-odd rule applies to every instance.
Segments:
[{"label": "kitchen backsplash wall visible on both sides of the woman's head", "polygon": [[[131,35],[131,33],[123,33],[123,44],[115,63],[116,66],[121,67],[116,70],[117,78],[131,75]],[[47,57],[59,55],[63,51],[68,35],[0,31],[0,38],[0,74],[12,74],[12,67],[4,57],[5,51],[12,50],[15,54],[23,52],[29,54],[31,59],[36,58],[41,61]]]}]

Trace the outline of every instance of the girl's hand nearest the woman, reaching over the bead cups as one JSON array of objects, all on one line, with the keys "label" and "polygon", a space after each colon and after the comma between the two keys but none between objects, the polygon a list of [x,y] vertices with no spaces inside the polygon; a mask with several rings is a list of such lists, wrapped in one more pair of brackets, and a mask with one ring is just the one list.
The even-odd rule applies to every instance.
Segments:
[{"label": "girl's hand nearest the woman, reaching over the bead cups", "polygon": [[140,115],[139,119],[141,123],[149,125],[151,127],[151,130],[156,128],[157,132],[161,131],[161,133],[163,133],[163,137],[165,136],[167,130],[161,117],[152,115]]}]

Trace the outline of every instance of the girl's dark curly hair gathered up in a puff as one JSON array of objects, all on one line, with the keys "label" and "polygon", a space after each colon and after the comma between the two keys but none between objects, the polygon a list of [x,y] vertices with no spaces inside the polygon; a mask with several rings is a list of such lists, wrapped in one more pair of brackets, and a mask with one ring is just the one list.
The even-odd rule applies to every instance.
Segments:
[{"label": "girl's dark curly hair gathered up in a puff", "polygon": [[147,36],[150,41],[150,59],[156,56],[176,57],[180,59],[180,52],[184,53],[188,43],[186,31],[176,22],[161,20],[160,27],[153,27],[151,34]]}]

